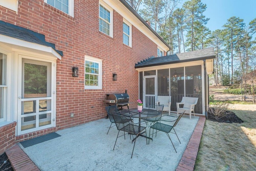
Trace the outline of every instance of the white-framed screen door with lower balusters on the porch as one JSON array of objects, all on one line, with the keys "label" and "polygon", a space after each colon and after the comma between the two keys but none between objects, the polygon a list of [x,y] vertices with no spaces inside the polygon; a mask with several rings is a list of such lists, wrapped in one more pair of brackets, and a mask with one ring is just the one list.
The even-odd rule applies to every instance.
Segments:
[{"label": "white-framed screen door with lower balusters on the porch", "polygon": [[156,76],[145,76],[143,80],[143,105],[148,108],[156,103]]}]

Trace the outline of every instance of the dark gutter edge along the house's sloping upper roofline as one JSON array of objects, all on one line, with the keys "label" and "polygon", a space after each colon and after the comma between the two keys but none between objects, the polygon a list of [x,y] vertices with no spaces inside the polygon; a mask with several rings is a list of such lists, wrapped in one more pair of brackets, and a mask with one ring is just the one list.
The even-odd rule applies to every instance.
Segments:
[{"label": "dark gutter edge along the house's sloping upper roofline", "polygon": [[140,20],[140,22],[142,22],[159,40],[161,40],[161,42],[163,42],[168,48],[169,50],[171,49],[171,47],[164,41],[164,39],[162,39],[159,34],[157,34],[155,32],[155,30],[150,27],[148,25],[148,23],[146,23],[146,21],[125,1],[125,0],[120,0],[120,2],[122,2],[122,4],[130,11],[132,12],[132,14],[134,14],[134,16],[136,16],[136,18],[138,18],[138,20]]}]

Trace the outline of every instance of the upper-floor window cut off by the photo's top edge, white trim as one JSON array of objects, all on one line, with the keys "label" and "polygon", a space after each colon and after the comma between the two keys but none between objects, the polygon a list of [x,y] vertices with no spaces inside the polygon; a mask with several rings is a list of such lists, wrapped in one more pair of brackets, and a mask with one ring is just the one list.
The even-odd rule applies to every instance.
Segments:
[{"label": "upper-floor window cut off by the photo's top edge, white trim", "polygon": [[74,0],[44,0],[44,2],[74,17]]}]

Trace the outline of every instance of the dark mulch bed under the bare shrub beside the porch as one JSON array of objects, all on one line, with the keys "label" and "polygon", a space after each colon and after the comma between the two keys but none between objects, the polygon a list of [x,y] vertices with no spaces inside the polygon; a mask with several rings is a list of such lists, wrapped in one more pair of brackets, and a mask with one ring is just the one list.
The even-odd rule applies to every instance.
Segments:
[{"label": "dark mulch bed under the bare shrub beside the porch", "polygon": [[232,111],[226,111],[226,114],[224,117],[221,117],[220,119],[216,120],[214,114],[208,112],[208,119],[210,121],[214,122],[220,122],[220,123],[243,123],[242,119],[236,116],[236,114]]}]

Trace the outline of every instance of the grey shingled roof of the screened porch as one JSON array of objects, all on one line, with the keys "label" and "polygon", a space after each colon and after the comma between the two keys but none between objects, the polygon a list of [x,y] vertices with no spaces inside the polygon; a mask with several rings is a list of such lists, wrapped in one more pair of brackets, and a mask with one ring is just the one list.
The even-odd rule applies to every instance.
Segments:
[{"label": "grey shingled roof of the screened porch", "polygon": [[180,62],[190,62],[190,61],[213,59],[213,58],[216,58],[214,48],[207,48],[202,50],[195,50],[192,52],[184,52],[180,54],[161,56],[158,58],[149,58],[148,60],[138,62],[138,64],[135,64],[135,68],[160,66],[160,65],[166,65],[166,64],[175,64]]}]

